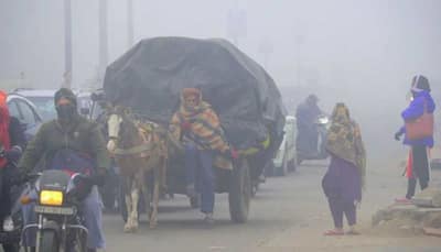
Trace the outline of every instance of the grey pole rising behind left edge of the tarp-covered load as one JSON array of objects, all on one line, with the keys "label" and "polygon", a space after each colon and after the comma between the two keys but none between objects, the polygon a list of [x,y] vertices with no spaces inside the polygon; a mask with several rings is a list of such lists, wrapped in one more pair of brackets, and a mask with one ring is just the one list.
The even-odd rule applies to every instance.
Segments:
[{"label": "grey pole rising behind left edge of the tarp-covered load", "polygon": [[107,0],[99,0],[99,80],[104,79],[108,64],[108,43],[107,43]]}]

